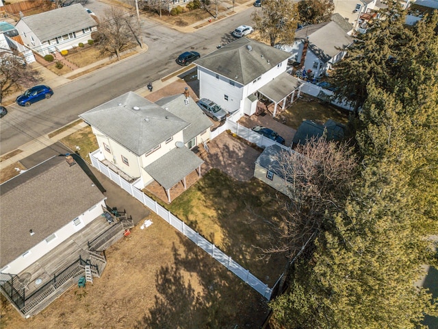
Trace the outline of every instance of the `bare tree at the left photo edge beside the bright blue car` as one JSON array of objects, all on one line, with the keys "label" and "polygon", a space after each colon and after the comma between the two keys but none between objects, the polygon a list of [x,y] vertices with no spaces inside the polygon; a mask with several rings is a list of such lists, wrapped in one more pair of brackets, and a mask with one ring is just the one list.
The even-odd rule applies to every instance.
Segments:
[{"label": "bare tree at the left photo edge beside the bright blue car", "polygon": [[3,97],[40,82],[40,72],[12,53],[0,53],[0,102]]}]

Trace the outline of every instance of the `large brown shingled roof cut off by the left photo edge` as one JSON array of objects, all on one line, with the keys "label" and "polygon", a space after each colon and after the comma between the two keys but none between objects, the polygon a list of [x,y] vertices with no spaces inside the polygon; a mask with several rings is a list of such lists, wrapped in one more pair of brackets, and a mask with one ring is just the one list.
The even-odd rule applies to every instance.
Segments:
[{"label": "large brown shingled roof cut off by the left photo edge", "polygon": [[4,182],[0,195],[0,268],[105,199],[79,164],[70,167],[64,156]]}]

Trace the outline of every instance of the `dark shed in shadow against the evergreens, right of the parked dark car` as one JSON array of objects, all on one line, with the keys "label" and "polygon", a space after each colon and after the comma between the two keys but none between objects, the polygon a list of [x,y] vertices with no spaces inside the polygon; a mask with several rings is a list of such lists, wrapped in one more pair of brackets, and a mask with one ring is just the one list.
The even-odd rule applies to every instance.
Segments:
[{"label": "dark shed in shadow against the evergreens, right of the parked dark car", "polygon": [[328,141],[342,141],[344,138],[345,125],[337,123],[331,119],[324,125],[320,125],[311,120],[302,121],[292,141],[293,145],[303,145],[312,137],[320,138],[325,136]]}]

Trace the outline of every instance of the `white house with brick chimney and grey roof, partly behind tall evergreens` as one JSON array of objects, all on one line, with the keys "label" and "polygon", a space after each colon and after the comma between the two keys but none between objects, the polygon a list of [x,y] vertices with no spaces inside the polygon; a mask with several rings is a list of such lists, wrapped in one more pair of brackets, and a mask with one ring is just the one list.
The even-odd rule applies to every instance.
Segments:
[{"label": "white house with brick chimney and grey roof, partly behind tall evergreens", "polygon": [[295,32],[293,45],[277,45],[300,63],[300,72],[318,78],[346,55],[353,39],[335,21],[308,25]]}]

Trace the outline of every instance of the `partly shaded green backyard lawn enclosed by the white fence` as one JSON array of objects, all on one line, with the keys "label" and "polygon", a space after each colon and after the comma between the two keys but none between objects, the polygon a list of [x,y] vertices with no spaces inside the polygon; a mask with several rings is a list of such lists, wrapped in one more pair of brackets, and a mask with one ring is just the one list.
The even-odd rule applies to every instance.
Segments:
[{"label": "partly shaded green backyard lawn enclosed by the white fence", "polygon": [[283,194],[255,178],[240,182],[212,169],[163,206],[272,287],[285,258],[263,258],[261,249],[275,241],[285,202]]}]

